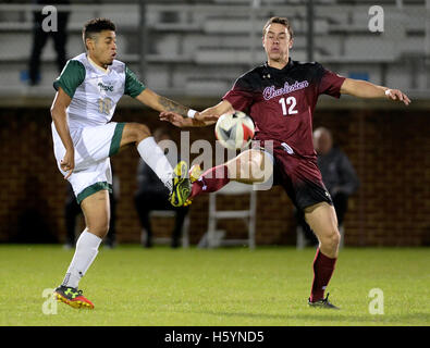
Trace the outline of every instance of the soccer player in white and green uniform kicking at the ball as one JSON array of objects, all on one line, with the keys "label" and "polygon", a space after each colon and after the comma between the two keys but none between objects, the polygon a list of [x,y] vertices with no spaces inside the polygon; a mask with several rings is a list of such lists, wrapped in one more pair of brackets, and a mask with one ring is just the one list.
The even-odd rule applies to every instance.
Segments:
[{"label": "soccer player in white and green uniform kicking at the ball", "polygon": [[[83,28],[86,52],[71,59],[53,86],[52,138],[58,167],[72,184],[85,215],[81,234],[63,283],[56,289],[58,300],[74,308],[94,304],[78,290],[79,279],[95,260],[109,228],[109,195],[112,173],[110,157],[134,144],[143,160],[171,190],[170,201],[182,206],[189,195],[186,163],[172,169],[147,126],[110,122],[123,95],[157,110],[193,116],[196,111],[157,95],[140,83],[126,64],[115,60],[115,25],[94,18]],[[184,166],[184,167],[182,167]]]}]

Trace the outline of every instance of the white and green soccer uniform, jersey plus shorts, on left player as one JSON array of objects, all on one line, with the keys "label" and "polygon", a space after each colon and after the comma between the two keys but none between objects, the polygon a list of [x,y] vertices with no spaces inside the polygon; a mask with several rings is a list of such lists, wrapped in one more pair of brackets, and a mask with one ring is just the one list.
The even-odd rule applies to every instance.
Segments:
[{"label": "white and green soccer uniform, jersey plus shorts, on left player", "polygon": [[[94,192],[112,189],[110,157],[120,149],[124,123],[109,122],[123,95],[137,97],[144,89],[127,66],[114,60],[107,71],[85,53],[71,59],[53,83],[72,98],[66,110],[75,148],[75,169],[69,177],[81,203]],[[52,122],[53,151],[60,172],[65,148]]]}]

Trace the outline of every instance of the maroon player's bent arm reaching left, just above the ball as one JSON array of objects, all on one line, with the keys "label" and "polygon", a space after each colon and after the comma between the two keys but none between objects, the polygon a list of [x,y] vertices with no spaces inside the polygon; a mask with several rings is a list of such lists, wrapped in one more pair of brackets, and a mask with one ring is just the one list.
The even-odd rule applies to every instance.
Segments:
[{"label": "maroon player's bent arm reaching left, just above the ball", "polygon": [[160,120],[170,122],[176,127],[205,127],[214,124],[220,115],[230,111],[234,111],[232,104],[223,100],[214,107],[197,112],[194,119],[183,117],[173,112],[161,112]]}]

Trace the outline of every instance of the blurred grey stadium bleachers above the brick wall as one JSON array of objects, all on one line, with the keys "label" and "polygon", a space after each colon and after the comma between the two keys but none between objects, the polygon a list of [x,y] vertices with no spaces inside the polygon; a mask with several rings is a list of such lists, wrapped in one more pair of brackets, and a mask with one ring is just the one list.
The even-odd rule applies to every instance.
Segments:
[{"label": "blurred grey stadium bleachers above the brick wall", "polygon": [[[20,75],[27,69],[34,8],[29,1],[0,4],[1,95],[28,92]],[[265,61],[261,28],[271,15],[293,25],[295,60],[318,61],[340,74],[396,86],[411,98],[430,95],[429,0],[75,0],[67,55],[83,50],[83,23],[106,16],[118,25],[119,59],[155,90],[168,95],[216,96]],[[384,13],[384,32],[369,30],[369,8]],[[38,95],[52,94],[58,75],[52,42],[42,54]]]}]

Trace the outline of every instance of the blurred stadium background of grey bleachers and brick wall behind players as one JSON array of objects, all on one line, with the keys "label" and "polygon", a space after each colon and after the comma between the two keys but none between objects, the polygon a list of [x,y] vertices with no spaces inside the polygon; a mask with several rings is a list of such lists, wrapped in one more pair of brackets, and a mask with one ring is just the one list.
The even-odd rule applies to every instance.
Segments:
[{"label": "blurred stadium background of grey bleachers and brick wall behind players", "polygon": [[[71,0],[70,7],[57,8],[71,13],[67,58],[83,52],[81,30],[88,18],[109,17],[118,27],[118,59],[155,91],[199,110],[265,62],[261,28],[271,15],[292,22],[292,59],[315,60],[344,76],[402,89],[413,100],[407,108],[386,100],[323,97],[314,125],[332,129],[363,183],[351,199],[345,246],[429,246],[430,0],[376,2]],[[41,9],[32,3],[0,0],[0,243],[52,241],[65,235],[65,183],[50,133],[58,76],[51,40],[42,53],[40,85],[28,87],[22,78],[32,49],[32,11]],[[369,9],[376,4],[384,12],[383,33],[369,30]],[[159,126],[157,113],[131,98],[121,100],[113,121]],[[179,142],[180,130],[171,130]],[[214,141],[213,129],[194,129],[191,141],[196,139]],[[124,151],[112,163],[122,183],[119,243],[138,243],[136,153]],[[244,209],[237,204],[224,208]],[[293,206],[282,188],[258,192],[256,220],[257,245],[295,245]],[[172,226],[163,224],[157,222],[169,236]],[[242,225],[233,227],[243,233]],[[207,228],[208,197],[202,197],[192,206],[191,243],[197,244]]]}]

